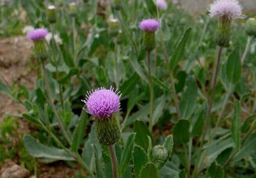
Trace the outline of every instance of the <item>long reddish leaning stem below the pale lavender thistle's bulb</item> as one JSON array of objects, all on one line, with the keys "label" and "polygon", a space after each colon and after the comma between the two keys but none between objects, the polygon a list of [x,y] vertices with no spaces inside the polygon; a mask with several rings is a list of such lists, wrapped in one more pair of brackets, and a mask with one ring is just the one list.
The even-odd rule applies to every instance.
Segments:
[{"label": "long reddish leaning stem below the pale lavender thistle's bulb", "polygon": [[208,106],[208,111],[207,111],[207,115],[206,115],[206,121],[205,121],[205,124],[204,124],[202,140],[200,142],[199,153],[198,153],[198,156],[197,156],[197,162],[196,162],[193,174],[192,174],[192,178],[196,177],[196,175],[198,173],[198,167],[200,166],[200,160],[201,160],[201,156],[202,156],[202,153],[203,153],[203,150],[202,150],[203,143],[204,143],[204,140],[205,140],[207,126],[208,126],[209,121],[210,121],[211,107],[212,107],[212,103],[214,101],[214,96],[215,96],[215,89],[216,89],[217,77],[218,77],[218,72],[219,72],[219,67],[220,67],[222,49],[223,49],[222,47],[219,48],[218,60],[217,60],[217,65],[216,65],[216,69],[215,69],[215,73],[214,73],[214,81],[212,83],[211,97],[210,97],[210,100],[209,100],[209,106]]}]

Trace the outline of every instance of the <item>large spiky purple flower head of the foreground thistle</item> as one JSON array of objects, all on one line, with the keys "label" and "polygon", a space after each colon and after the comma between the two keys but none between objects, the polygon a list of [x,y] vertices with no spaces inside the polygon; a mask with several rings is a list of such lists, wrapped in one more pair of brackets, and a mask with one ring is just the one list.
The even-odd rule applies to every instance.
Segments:
[{"label": "large spiky purple flower head of the foreground thistle", "polygon": [[84,110],[98,119],[110,118],[113,113],[120,110],[121,94],[117,89],[114,91],[113,87],[109,90],[101,87],[87,92],[86,96],[87,98],[82,100],[87,106]]}]

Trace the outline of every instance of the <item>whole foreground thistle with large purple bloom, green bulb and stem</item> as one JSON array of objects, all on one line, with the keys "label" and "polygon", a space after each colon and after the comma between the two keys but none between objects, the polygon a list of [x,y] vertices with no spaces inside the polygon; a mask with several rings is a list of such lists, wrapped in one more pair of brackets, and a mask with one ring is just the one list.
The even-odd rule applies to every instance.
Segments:
[{"label": "whole foreground thistle with large purple bloom, green bulb and stem", "polygon": [[110,89],[99,88],[92,92],[87,92],[87,99],[82,100],[86,104],[85,109],[95,118],[96,137],[101,145],[109,148],[113,177],[117,177],[117,162],[115,156],[114,144],[120,138],[119,121],[116,112],[120,110],[120,92]]}]

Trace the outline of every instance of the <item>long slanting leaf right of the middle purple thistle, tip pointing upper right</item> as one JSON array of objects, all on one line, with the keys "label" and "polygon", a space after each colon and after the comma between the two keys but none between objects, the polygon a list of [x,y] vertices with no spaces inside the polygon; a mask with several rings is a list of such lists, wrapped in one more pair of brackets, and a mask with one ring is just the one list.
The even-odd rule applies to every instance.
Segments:
[{"label": "long slanting leaf right of the middle purple thistle, tip pointing upper right", "polygon": [[186,45],[186,42],[187,42],[187,40],[190,36],[190,33],[191,33],[191,28],[189,28],[185,31],[185,33],[181,37],[181,40],[179,41],[179,43],[175,47],[172,59],[170,60],[170,63],[169,63],[169,70],[170,71],[174,70],[174,68],[178,65],[179,61],[183,57],[184,50],[185,50],[185,45]]}]

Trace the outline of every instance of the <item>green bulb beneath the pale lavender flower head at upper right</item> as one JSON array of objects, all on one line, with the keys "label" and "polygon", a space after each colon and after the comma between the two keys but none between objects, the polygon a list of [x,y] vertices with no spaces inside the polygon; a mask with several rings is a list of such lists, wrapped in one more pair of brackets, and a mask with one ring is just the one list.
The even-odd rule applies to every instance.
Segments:
[{"label": "green bulb beneath the pale lavender flower head at upper right", "polygon": [[224,15],[220,17],[218,30],[216,34],[216,42],[221,47],[228,47],[231,32],[231,19]]}]

